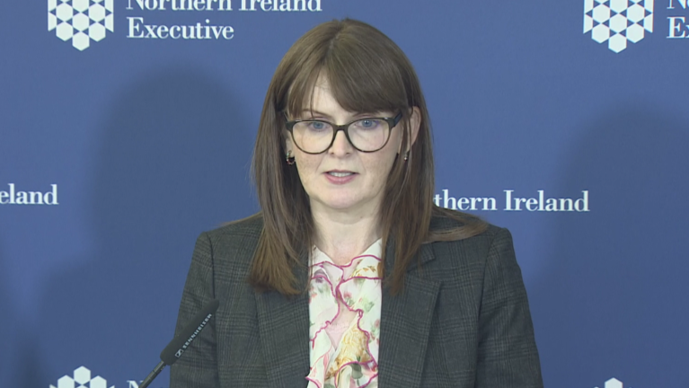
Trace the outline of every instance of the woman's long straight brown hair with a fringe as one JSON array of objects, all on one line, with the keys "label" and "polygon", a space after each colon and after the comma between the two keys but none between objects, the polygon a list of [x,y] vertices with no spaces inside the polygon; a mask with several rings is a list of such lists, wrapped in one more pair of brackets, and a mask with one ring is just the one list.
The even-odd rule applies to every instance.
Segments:
[{"label": "woman's long straight brown hair with a fringe", "polygon": [[[385,276],[385,282],[396,294],[422,243],[464,239],[480,234],[486,224],[433,205],[430,124],[416,72],[381,31],[350,19],[325,22],[306,32],[289,48],[270,82],[252,162],[263,231],[249,281],[259,290],[283,295],[299,294],[307,286],[299,284],[295,269],[307,265],[300,258],[314,244],[314,219],[296,165],[285,162],[285,117],[310,109],[306,104],[313,106],[319,75],[327,78],[333,97],[345,110],[402,112],[402,150],[409,150],[409,156],[393,163],[379,215],[384,246],[394,243],[393,273]],[[412,107],[420,110],[420,129],[410,145]],[[460,224],[430,230],[431,216],[446,216]]]}]

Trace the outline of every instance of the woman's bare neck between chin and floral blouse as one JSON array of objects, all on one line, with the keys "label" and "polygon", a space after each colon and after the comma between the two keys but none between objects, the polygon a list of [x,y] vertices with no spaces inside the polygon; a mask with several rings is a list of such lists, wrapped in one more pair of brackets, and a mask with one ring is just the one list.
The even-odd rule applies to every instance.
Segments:
[{"label": "woman's bare neck between chin and floral blouse", "polygon": [[362,215],[312,208],[312,214],[316,227],[315,244],[337,265],[349,264],[381,237],[375,212]]}]

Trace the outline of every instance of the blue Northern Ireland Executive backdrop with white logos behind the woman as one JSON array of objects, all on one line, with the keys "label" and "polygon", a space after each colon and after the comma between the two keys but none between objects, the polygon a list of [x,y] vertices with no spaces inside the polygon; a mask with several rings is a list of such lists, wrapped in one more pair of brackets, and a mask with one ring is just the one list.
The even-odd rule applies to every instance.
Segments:
[{"label": "blue Northern Ireland Executive backdrop with white logos behind the woman", "polygon": [[197,235],[258,209],[250,158],[280,58],[349,16],[416,66],[437,203],[514,234],[545,385],[689,387],[685,0],[3,9],[0,386],[136,388]]}]

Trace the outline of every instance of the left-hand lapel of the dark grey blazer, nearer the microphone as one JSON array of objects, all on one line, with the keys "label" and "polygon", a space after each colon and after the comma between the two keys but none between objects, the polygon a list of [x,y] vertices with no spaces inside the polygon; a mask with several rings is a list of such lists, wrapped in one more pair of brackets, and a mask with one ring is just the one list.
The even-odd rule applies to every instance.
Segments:
[{"label": "left-hand lapel of the dark grey blazer, nearer the microphone", "polygon": [[[308,269],[300,267],[296,273],[299,285],[305,285]],[[287,298],[275,291],[257,293],[256,309],[269,387],[305,387],[310,367],[308,294]]]}]

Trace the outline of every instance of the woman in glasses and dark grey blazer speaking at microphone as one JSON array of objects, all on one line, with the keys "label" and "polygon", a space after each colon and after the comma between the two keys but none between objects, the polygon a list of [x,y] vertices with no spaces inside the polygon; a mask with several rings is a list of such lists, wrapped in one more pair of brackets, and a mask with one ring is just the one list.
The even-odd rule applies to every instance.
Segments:
[{"label": "woman in glasses and dark grey blazer speaking at microphone", "polygon": [[435,207],[428,111],[400,48],[326,22],[269,85],[261,213],[201,234],[178,330],[220,308],[176,387],[541,387],[505,229]]}]

